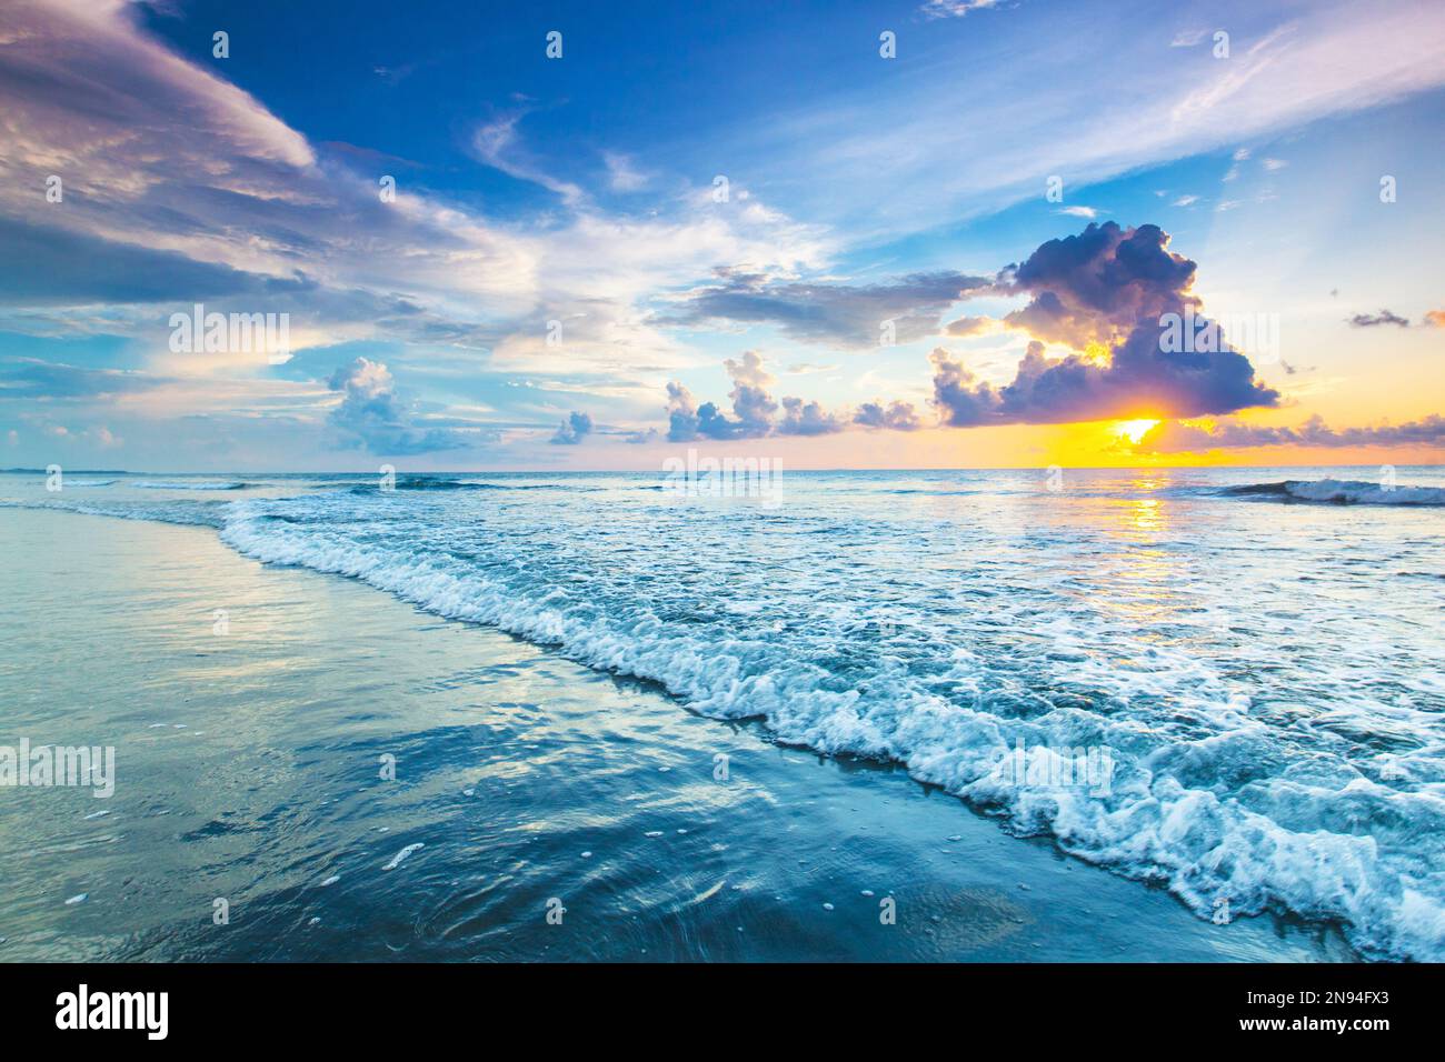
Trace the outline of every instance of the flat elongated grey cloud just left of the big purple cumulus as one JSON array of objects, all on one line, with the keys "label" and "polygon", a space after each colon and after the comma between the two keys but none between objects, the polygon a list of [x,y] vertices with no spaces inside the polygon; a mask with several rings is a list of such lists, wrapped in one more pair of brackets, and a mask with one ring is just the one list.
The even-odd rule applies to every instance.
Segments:
[{"label": "flat elongated grey cloud just left of the big purple cumulus", "polygon": [[668,324],[773,324],[793,340],[857,348],[877,347],[884,321],[893,322],[897,342],[933,335],[951,303],[993,283],[951,272],[913,273],[883,285],[772,283],[762,273],[714,272],[720,283],[692,292]]}]

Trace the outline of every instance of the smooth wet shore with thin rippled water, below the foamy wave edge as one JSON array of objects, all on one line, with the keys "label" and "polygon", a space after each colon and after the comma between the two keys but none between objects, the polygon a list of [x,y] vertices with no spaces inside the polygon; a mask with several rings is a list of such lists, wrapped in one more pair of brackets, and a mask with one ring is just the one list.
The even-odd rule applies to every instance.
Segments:
[{"label": "smooth wet shore with thin rippled water, below the foamy wave edge", "polygon": [[[4,577],[0,681],[32,691],[13,725],[48,737],[68,709],[120,750],[98,819],[74,792],[29,793],[29,829],[0,805],[0,847],[32,852],[0,959],[1357,958],[1334,928],[1215,926],[899,766],[779,746],[210,529],[9,509],[0,540],[40,558]],[[90,653],[66,675],[38,649],[56,618]]]}]

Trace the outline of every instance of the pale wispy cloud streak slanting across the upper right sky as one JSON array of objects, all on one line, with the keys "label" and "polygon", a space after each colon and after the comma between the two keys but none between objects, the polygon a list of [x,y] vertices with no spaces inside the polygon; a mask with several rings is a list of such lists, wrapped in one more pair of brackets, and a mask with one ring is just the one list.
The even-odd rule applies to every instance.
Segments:
[{"label": "pale wispy cloud streak slanting across the upper right sky", "polygon": [[[763,159],[769,179],[798,195],[829,188],[832,217],[880,241],[900,240],[1033,199],[1051,173],[1066,172],[1075,188],[1094,185],[1246,140],[1263,143],[1445,82],[1445,20],[1419,0],[1321,3],[1300,17],[1256,4],[1238,16],[1247,26],[1230,25],[1228,59],[1211,55],[1208,35],[1192,51],[1168,51],[1178,30],[1196,27],[1181,23],[1173,6],[1094,4],[1092,32],[1111,42],[1111,68],[1127,71],[1103,78],[1095,65],[1074,62],[1077,43],[1048,4],[1020,4],[1017,14],[1007,25],[985,16],[1000,46],[949,40],[978,46],[967,103],[978,121],[959,120],[949,64],[912,66],[906,79],[870,82],[828,107],[803,100],[782,108],[770,118],[777,133]],[[1010,75],[1019,69],[1051,75],[1020,94]],[[978,150],[981,127],[987,150]],[[730,157],[751,142],[751,130],[740,131],[717,150]]]}]

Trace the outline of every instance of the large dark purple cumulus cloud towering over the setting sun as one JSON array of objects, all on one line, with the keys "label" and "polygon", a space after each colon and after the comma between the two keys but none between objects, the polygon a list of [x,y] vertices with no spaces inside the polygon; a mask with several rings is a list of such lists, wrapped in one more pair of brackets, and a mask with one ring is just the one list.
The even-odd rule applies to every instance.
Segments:
[{"label": "large dark purple cumulus cloud towering over the setting sun", "polygon": [[1160,318],[1202,309],[1189,290],[1195,263],[1168,244],[1157,225],[1090,224],[1004,270],[1000,289],[1030,296],[1004,322],[1079,353],[1051,358],[1035,340],[1013,381],[996,389],[935,350],[933,402],[942,422],[968,428],[1144,413],[1188,418],[1279,405],[1279,392],[1256,383],[1248,358],[1228,342],[1215,344],[1222,350],[1165,350]]}]

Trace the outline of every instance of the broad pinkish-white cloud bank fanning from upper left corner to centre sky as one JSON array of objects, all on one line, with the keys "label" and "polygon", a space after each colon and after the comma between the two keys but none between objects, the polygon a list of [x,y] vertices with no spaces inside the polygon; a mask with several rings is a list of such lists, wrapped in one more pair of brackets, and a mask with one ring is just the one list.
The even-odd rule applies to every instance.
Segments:
[{"label": "broad pinkish-white cloud bank fanning from upper left corner to centre sky", "polygon": [[[0,4],[0,38],[13,40],[0,43],[0,329],[124,340],[158,379],[205,377],[152,389],[143,403],[127,397],[131,413],[171,426],[195,403],[220,415],[228,400],[230,441],[279,439],[267,429],[286,419],[290,439],[327,425],[327,442],[366,445],[342,431],[350,423],[377,445],[475,442],[484,432],[468,419],[465,392],[488,370],[525,373],[533,394],[581,380],[640,416],[665,373],[692,361],[655,319],[657,292],[695,286],[718,263],[786,272],[831,253],[821,228],[756,197],[707,210],[673,197],[640,218],[603,214],[551,181],[523,143],[523,113],[496,118],[470,146],[519,179],[551,181],[559,210],[488,221],[473,201],[428,188],[435,170],[344,143],[314,146],[223,81],[227,64],[182,58],[142,9],[118,0],[12,0]],[[629,172],[613,166],[623,185]],[[45,198],[52,173],[64,178],[56,204]],[[383,173],[397,176],[392,201],[379,195]],[[344,394],[332,423],[334,392],[263,357],[175,357],[166,318],[194,302],[289,312],[302,361],[308,347],[350,341],[423,345],[410,363],[406,350],[384,360],[425,386],[428,412],[373,405],[379,420],[350,420],[357,406]],[[568,325],[561,348],[543,345],[552,318]],[[445,425],[436,399],[461,399],[454,419],[475,433],[429,435]],[[535,428],[558,407],[507,410],[496,426]],[[390,419],[399,413],[413,422]]]}]

